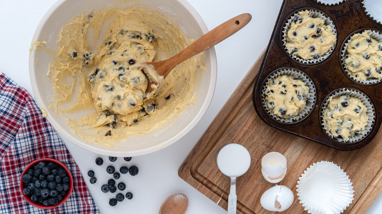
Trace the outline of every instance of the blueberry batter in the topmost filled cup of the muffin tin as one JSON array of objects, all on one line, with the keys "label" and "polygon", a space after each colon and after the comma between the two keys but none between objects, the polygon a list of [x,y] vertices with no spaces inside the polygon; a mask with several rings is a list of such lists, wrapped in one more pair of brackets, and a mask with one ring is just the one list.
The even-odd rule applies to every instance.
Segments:
[{"label": "blueberry batter in the topmost filled cup of the muffin tin", "polygon": [[286,45],[289,54],[304,60],[318,60],[335,43],[333,29],[325,20],[312,18],[310,11],[301,11],[290,23]]}]

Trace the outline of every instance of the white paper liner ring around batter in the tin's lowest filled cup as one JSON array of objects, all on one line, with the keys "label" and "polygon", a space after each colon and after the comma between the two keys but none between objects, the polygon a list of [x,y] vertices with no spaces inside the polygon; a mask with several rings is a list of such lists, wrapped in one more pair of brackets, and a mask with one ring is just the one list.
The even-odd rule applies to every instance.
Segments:
[{"label": "white paper liner ring around batter in the tin's lowest filled cup", "polygon": [[[358,98],[363,105],[366,107],[366,115],[368,116],[368,121],[365,127],[365,131],[363,133],[356,133],[353,137],[349,137],[349,139],[345,139],[341,136],[335,137],[325,126],[324,121],[324,110],[326,107],[328,107],[329,102],[335,98],[342,95],[349,95],[350,97]],[[321,125],[324,128],[325,132],[334,140],[337,140],[339,143],[356,143],[360,140],[362,140],[364,137],[367,136],[368,133],[370,133],[371,129],[373,128],[373,124],[375,122],[375,110],[374,106],[371,103],[370,99],[361,91],[356,89],[350,89],[350,88],[341,88],[337,89],[331,96],[327,97],[327,99],[324,100],[323,106],[321,108]]]}]

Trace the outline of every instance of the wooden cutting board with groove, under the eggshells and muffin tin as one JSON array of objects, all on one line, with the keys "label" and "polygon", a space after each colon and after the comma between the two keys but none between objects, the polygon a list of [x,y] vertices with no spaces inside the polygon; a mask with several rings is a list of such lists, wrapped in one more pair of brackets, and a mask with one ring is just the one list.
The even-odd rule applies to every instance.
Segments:
[{"label": "wooden cutting board with groove, under the eggshells and muffin tin", "polygon": [[251,166],[237,179],[237,211],[242,214],[272,213],[260,205],[262,194],[274,186],[262,176],[261,159],[267,152],[277,151],[284,154],[288,165],[285,178],[278,184],[294,193],[293,204],[284,213],[299,214],[307,211],[298,200],[298,178],[313,163],[331,161],[340,166],[353,183],[354,200],[344,213],[365,213],[382,191],[382,132],[359,150],[340,151],[266,125],[252,102],[263,57],[264,52],[191,150],[179,168],[179,176],[227,210],[230,179],[217,168],[216,156],[229,143],[241,144],[251,154]]}]

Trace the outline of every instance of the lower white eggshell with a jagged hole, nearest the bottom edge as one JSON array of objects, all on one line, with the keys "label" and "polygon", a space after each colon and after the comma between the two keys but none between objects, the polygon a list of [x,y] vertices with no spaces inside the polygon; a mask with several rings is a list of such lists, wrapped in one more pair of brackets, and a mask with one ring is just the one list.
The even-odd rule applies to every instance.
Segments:
[{"label": "lower white eggshell with a jagged hole, nearest the bottom edge", "polygon": [[293,192],[283,185],[276,185],[265,191],[260,198],[260,204],[265,210],[283,212],[293,203]]}]

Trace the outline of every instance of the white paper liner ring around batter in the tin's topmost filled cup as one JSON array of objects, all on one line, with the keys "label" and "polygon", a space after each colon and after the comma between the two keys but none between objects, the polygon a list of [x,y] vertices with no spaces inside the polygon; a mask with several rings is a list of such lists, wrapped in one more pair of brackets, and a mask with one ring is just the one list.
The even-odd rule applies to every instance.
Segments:
[{"label": "white paper liner ring around batter in the tin's topmost filled cup", "polygon": [[[326,25],[329,25],[329,26],[332,27],[333,33],[334,33],[334,35],[335,35],[335,42],[334,42],[333,46],[332,46],[332,47],[331,47],[325,54],[323,54],[322,56],[320,56],[320,58],[318,58],[317,60],[314,60],[314,59],[304,60],[304,59],[302,59],[301,57],[299,57],[299,56],[297,56],[297,55],[295,55],[295,54],[289,54],[289,53],[288,53],[288,48],[287,48],[287,32],[288,32],[288,30],[289,30],[289,28],[290,28],[290,25],[291,25],[292,21],[296,18],[296,16],[297,16],[300,12],[304,12],[304,11],[310,11],[310,14],[311,14],[311,17],[312,17],[312,18],[318,18],[318,17],[319,17],[319,18],[324,19],[324,20],[325,20],[325,24],[326,24]],[[317,11],[317,10],[313,10],[313,9],[311,9],[311,10],[307,10],[307,9],[305,9],[305,10],[300,10],[300,11],[294,13],[294,14],[293,14],[292,16],[290,16],[290,18],[287,20],[287,22],[286,22],[285,25],[284,25],[282,41],[283,41],[283,44],[284,44],[284,48],[285,48],[285,50],[287,51],[287,54],[289,54],[289,56],[290,56],[292,59],[294,59],[294,60],[296,60],[296,61],[298,61],[298,62],[300,62],[300,63],[303,63],[303,64],[317,64],[317,63],[319,63],[319,62],[324,61],[324,60],[325,60],[326,58],[328,58],[328,57],[331,55],[331,53],[333,52],[334,47],[335,47],[335,44],[337,43],[337,30],[336,30],[336,28],[335,28],[335,25],[334,25],[333,21],[332,21],[329,17],[326,17],[324,13],[322,13],[322,12],[320,12],[320,11]]]}]

